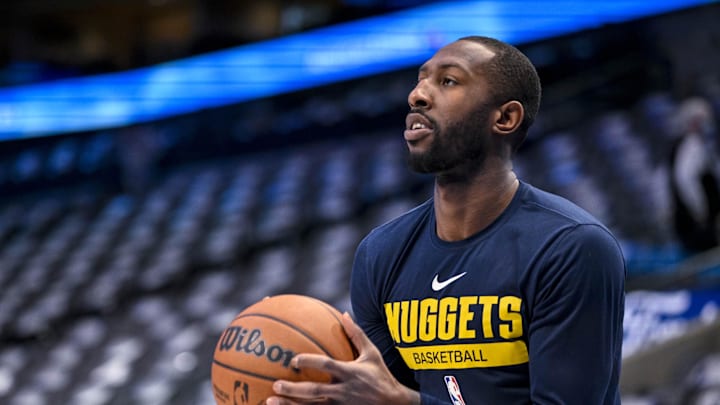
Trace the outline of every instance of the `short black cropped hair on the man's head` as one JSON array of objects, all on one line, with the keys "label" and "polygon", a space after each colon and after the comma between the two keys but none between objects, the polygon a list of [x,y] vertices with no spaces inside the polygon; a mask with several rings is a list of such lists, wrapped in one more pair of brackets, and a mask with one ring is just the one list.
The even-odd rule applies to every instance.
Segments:
[{"label": "short black cropped hair on the man's head", "polygon": [[483,65],[493,84],[491,91],[494,101],[504,104],[517,100],[525,109],[525,117],[518,130],[519,136],[513,137],[512,147],[516,150],[527,137],[540,109],[542,89],[535,66],[519,49],[495,38],[473,35],[458,41],[479,43],[495,54]]}]

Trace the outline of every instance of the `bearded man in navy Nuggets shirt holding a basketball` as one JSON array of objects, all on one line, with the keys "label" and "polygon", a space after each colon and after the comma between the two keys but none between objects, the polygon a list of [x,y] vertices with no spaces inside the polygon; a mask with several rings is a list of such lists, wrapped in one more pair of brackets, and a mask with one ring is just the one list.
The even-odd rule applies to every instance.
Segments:
[{"label": "bearded man in navy Nuggets shirt holding a basketball", "polygon": [[[353,362],[302,354],[336,382],[277,381],[271,405],[618,404],[625,264],[610,232],[519,181],[511,158],[540,82],[514,47],[440,49],[408,97],[413,169],[433,198],[356,252],[343,319]],[[290,399],[293,398],[293,399]]]}]

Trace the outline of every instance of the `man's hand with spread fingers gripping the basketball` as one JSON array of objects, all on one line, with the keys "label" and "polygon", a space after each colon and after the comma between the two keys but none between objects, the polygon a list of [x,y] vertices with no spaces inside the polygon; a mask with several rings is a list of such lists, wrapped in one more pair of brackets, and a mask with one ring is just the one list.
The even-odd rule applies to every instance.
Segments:
[{"label": "man's hand with spread fingers gripping the basketball", "polygon": [[339,361],[319,354],[298,354],[293,367],[313,368],[333,376],[333,383],[290,382],[278,380],[273,389],[283,397],[268,398],[268,405],[363,404],[417,405],[420,394],[400,384],[383,362],[380,351],[344,313],[345,333],[358,351],[353,361]]}]

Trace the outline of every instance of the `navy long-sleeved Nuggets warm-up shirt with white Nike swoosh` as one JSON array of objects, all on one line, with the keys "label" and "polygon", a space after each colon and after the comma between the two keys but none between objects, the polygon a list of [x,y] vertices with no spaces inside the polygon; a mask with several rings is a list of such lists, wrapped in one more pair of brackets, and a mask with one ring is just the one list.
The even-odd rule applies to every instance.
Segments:
[{"label": "navy long-sleeved Nuggets warm-up shirt with white Nike swoosh", "polygon": [[370,232],[351,300],[423,404],[619,404],[624,282],[603,225],[521,182],[463,241],[437,237],[432,199]]}]

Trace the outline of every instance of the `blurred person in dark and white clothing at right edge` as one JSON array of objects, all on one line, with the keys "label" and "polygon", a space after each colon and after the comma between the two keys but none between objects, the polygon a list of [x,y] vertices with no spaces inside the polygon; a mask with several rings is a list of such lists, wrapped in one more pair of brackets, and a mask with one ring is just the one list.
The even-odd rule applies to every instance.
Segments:
[{"label": "blurred person in dark and white clothing at right edge", "polygon": [[674,226],[689,253],[720,243],[720,153],[715,117],[703,98],[684,101],[674,118],[670,188]]}]

